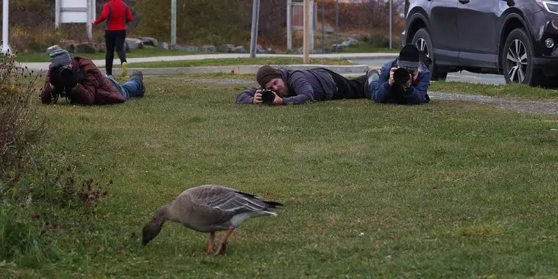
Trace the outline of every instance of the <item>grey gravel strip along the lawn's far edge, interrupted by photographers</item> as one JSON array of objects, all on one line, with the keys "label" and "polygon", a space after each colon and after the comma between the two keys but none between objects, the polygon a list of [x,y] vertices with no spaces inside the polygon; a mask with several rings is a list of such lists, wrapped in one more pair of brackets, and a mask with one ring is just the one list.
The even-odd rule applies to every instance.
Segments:
[{"label": "grey gravel strip along the lawn's far edge, interrupted by photographers", "polygon": [[[257,85],[255,81],[230,78],[204,79],[176,77],[176,79],[199,83],[246,84],[246,86]],[[432,100],[463,100],[467,102],[492,104],[498,108],[513,110],[515,112],[558,115],[558,102],[546,102],[538,100],[509,100],[505,98],[497,98],[478,94],[448,93],[439,91],[430,91],[428,92],[428,96],[430,96]]]}]

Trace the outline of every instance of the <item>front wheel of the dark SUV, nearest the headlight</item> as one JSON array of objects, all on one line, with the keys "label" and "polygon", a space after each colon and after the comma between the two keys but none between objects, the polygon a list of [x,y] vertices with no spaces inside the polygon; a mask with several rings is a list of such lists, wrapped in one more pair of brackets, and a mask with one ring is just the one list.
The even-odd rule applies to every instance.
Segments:
[{"label": "front wheel of the dark SUV, nearest the headlight", "polygon": [[525,29],[513,29],[508,34],[501,56],[506,83],[540,85],[539,75],[531,61],[534,56],[533,42]]}]

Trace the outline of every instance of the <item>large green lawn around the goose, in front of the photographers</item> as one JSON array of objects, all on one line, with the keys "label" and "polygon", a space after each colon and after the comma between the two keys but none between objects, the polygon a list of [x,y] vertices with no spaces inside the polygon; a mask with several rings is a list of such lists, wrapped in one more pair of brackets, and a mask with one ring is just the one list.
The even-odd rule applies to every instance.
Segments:
[{"label": "large green lawn around the goose, in front of the photographers", "polygon": [[[97,226],[61,231],[61,257],[10,277],[393,278],[556,276],[558,119],[490,105],[335,100],[236,105],[246,88],[146,78],[121,105],[41,106],[50,151],[112,179]],[[68,155],[69,156],[69,155]],[[141,229],[182,190],[223,184],[285,208],[248,220],[227,255],[207,235]],[[223,234],[218,234],[218,237]],[[78,242],[79,240],[79,242]]]}]

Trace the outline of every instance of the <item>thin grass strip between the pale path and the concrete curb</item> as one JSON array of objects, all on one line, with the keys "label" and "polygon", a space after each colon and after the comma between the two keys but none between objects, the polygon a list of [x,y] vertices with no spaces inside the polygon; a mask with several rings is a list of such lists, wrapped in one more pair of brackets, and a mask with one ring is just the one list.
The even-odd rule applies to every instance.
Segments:
[{"label": "thin grass strip between the pale path and the concrete curb", "polygon": [[[140,62],[130,63],[134,68],[174,68],[174,67],[195,67],[195,66],[232,66],[232,65],[290,65],[303,64],[302,58],[232,58],[232,59],[203,59],[203,60],[180,60],[180,61],[160,61],[160,62]],[[354,65],[355,63],[347,59],[316,59],[312,58],[310,64],[324,65]]]}]

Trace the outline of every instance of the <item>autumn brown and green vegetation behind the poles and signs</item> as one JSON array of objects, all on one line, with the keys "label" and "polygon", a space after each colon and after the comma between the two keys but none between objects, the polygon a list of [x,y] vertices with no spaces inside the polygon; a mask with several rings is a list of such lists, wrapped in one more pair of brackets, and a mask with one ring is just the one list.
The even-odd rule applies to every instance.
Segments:
[{"label": "autumn brown and green vegetation behind the poles and signs", "polygon": [[[20,52],[43,52],[61,40],[84,42],[85,24],[61,24],[54,28],[54,0],[19,0],[10,2],[10,45]],[[126,1],[133,8],[134,21],[128,37],[147,36],[170,42],[171,1]],[[97,1],[97,15],[103,3]],[[371,46],[389,44],[389,8],[386,3],[339,3],[339,43],[352,33],[361,35]],[[335,42],[335,1],[325,3],[324,22],[329,35],[325,45]],[[393,44],[400,44],[402,18],[393,9]],[[0,14],[1,15],[1,14]],[[180,45],[250,45],[252,0],[177,0],[177,43]],[[269,0],[260,5],[258,44],[279,50],[287,45],[287,7],[285,0]],[[104,24],[93,28],[93,42],[102,43]],[[300,34],[299,34],[300,33]],[[322,3],[317,1],[315,44],[322,42]],[[294,32],[293,47],[303,45],[301,31]]]}]

